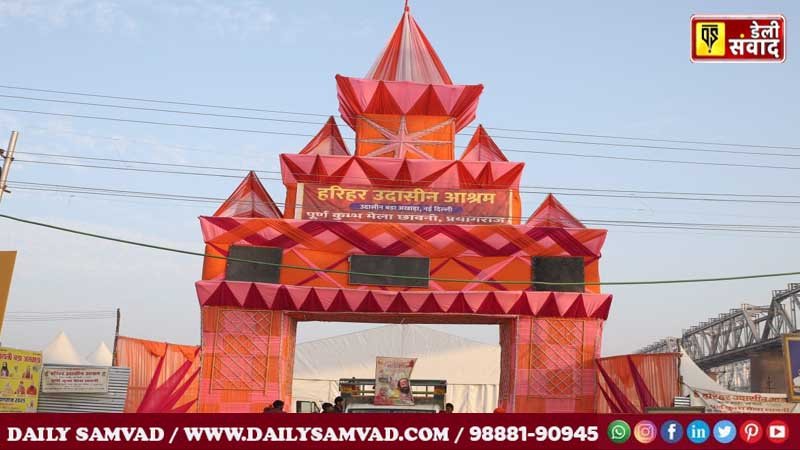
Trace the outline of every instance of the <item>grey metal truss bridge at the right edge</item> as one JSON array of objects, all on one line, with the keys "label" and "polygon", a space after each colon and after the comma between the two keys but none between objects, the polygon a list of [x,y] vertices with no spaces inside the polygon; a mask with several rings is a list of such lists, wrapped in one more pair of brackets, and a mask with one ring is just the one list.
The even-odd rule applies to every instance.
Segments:
[{"label": "grey metal truss bridge at the right edge", "polygon": [[703,369],[749,358],[754,352],[781,345],[781,336],[798,331],[800,283],[772,291],[767,306],[743,304],[637,353],[674,352],[683,348]]}]

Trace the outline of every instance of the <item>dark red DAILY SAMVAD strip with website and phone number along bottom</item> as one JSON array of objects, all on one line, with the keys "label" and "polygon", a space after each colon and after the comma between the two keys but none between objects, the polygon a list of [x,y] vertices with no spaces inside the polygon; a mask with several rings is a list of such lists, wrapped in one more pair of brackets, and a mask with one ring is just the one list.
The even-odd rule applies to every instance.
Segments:
[{"label": "dark red DAILY SAMVAD strip with website and phone number along bottom", "polygon": [[4,449],[796,449],[796,414],[5,414]]}]

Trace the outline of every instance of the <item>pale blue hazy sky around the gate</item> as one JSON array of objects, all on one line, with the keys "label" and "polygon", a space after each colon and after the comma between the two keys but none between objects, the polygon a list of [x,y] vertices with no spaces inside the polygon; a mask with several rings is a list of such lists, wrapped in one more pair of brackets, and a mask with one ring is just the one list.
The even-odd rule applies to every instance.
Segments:
[{"label": "pale blue hazy sky around the gate", "polygon": [[[338,117],[334,75],[363,76],[402,13],[402,1],[159,2],[0,0],[4,64],[0,85],[95,93]],[[800,48],[788,31],[783,64],[692,64],[689,19],[695,13],[782,13],[791,28],[797,2],[531,2],[411,1],[412,13],[456,83],[485,86],[476,123],[487,127],[800,146]],[[4,97],[5,96],[5,97]],[[147,104],[0,88],[0,141],[19,130],[19,160],[11,182],[149,191],[225,198],[244,169],[262,171],[282,201],[280,153],[295,153],[308,137],[121,123],[42,115],[118,117],[313,135],[319,124],[220,118],[113,109],[24,96],[319,122],[324,117]],[[339,121],[341,125],[341,120]],[[343,126],[346,136],[352,132]],[[631,141],[520,132],[495,135],[614,144]],[[786,156],[702,153],[496,137],[524,161],[523,194],[530,214],[554,187],[670,192],[800,195],[796,168],[764,169],[545,155],[580,153],[647,159],[800,166]],[[464,144],[461,137],[459,143]],[[659,145],[653,142],[638,142]],[[738,147],[661,146],[754,151]],[[524,152],[515,150],[525,150]],[[755,149],[758,151],[759,149]],[[761,149],[761,151],[764,151]],[[207,177],[85,167],[25,152],[73,154],[243,169]],[[76,162],[76,161],[71,161]],[[86,161],[82,161],[86,163]],[[101,164],[101,162],[98,162]],[[111,164],[111,163],[108,163]],[[141,167],[141,166],[131,166]],[[191,170],[186,170],[191,171]],[[197,169],[199,172],[211,170]],[[30,185],[28,185],[30,186]],[[531,189],[533,190],[533,189]],[[629,220],[800,226],[791,204],[559,196],[588,220]],[[198,216],[217,204],[101,197],[14,189],[0,212],[82,230],[202,251]],[[704,278],[798,271],[791,233],[689,231],[609,227],[601,259],[607,281]],[[122,312],[124,335],[199,343],[194,282],[198,257],[161,253],[0,221],[0,249],[17,250],[9,311]],[[603,354],[633,352],[650,342],[742,303],[767,304],[793,277],[707,284],[609,286],[614,294]],[[304,324],[300,340],[367,325]],[[497,342],[496,327],[441,327]],[[114,321],[7,322],[3,345],[43,348],[64,330],[79,352],[113,341]]]}]

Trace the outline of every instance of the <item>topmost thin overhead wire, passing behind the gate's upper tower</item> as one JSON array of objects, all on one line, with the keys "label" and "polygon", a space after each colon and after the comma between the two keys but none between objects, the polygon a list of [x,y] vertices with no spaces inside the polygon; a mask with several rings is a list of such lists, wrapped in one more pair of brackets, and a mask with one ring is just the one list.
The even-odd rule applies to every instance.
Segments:
[{"label": "topmost thin overhead wire, passing behind the gate's upper tower", "polygon": [[[28,91],[28,92],[44,92],[44,93],[51,93],[51,94],[74,95],[74,96],[83,96],[83,97],[105,98],[105,99],[112,99],[112,100],[126,100],[126,101],[158,103],[158,104],[168,104],[168,105],[195,106],[195,107],[202,107],[202,108],[225,109],[225,110],[234,110],[234,111],[250,111],[250,112],[261,112],[261,113],[270,113],[270,114],[286,114],[286,115],[312,116],[312,117],[329,117],[330,116],[330,114],[319,114],[319,113],[310,113],[310,112],[297,112],[297,111],[287,111],[287,110],[280,110],[280,109],[261,109],[261,108],[249,108],[249,107],[241,107],[241,106],[218,105],[218,104],[207,104],[207,103],[196,103],[196,102],[184,102],[184,101],[163,100],[163,99],[142,98],[142,97],[114,96],[114,95],[104,95],[104,94],[89,93],[89,92],[63,91],[63,90],[55,90],[55,89],[38,89],[38,88],[23,87],[23,86],[0,85],[0,88],[12,89],[12,90],[21,90],[21,91]],[[471,126],[471,127],[466,127],[466,128],[474,129],[476,127]],[[652,137],[637,137],[637,136],[625,136],[625,135],[613,135],[613,134],[592,134],[592,133],[576,133],[576,132],[564,132],[564,131],[552,131],[552,130],[532,130],[532,129],[522,129],[522,128],[502,128],[502,127],[485,127],[485,128],[487,130],[509,131],[509,132],[515,132],[515,133],[532,133],[532,134],[549,134],[549,135],[558,135],[558,136],[591,137],[591,138],[598,138],[598,139],[618,139],[618,140],[630,140],[630,141],[667,142],[667,143],[673,143],[673,144],[715,145],[715,146],[740,147],[740,148],[764,148],[764,149],[800,150],[800,146],[792,146],[792,145],[748,144],[748,143],[741,143],[741,142],[722,142],[722,141],[709,141],[709,140],[697,140],[697,139],[652,138]]]}]

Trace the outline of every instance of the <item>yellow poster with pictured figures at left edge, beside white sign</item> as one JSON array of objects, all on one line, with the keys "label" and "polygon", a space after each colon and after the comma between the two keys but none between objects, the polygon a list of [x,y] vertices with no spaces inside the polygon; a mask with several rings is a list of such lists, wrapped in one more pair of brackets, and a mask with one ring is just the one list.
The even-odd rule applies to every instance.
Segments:
[{"label": "yellow poster with pictured figures at left edge, beside white sign", "polygon": [[0,412],[36,412],[42,352],[0,347]]}]

